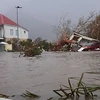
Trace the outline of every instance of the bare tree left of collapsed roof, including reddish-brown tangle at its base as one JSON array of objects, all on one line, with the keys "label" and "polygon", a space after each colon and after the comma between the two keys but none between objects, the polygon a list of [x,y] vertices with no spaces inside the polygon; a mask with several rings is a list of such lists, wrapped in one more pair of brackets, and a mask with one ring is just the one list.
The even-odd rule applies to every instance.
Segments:
[{"label": "bare tree left of collapsed roof, including reddish-brown tangle at its base", "polygon": [[68,19],[66,16],[62,17],[59,21],[59,25],[54,27],[54,32],[57,35],[57,41],[54,44],[54,50],[69,50],[70,43],[68,43],[67,40],[69,40],[72,34],[71,20]]}]

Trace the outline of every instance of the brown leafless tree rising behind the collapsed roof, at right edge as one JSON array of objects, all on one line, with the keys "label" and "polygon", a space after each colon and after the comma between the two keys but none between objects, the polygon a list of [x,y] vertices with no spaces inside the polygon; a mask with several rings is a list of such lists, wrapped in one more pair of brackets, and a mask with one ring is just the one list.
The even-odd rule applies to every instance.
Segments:
[{"label": "brown leafless tree rising behind the collapsed roof, at right edge", "polygon": [[73,31],[100,40],[100,13],[92,12],[86,19],[81,17]]}]

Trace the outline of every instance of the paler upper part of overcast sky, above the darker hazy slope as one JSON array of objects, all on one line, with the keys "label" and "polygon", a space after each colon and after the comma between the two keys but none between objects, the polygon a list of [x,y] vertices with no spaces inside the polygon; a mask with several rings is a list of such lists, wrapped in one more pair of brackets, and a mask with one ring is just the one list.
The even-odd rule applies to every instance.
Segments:
[{"label": "paler upper part of overcast sky, above the darker hazy slope", "polygon": [[0,13],[15,19],[17,5],[23,7],[19,17],[25,14],[49,25],[56,25],[66,14],[75,23],[91,11],[100,11],[100,0],[0,0]]}]

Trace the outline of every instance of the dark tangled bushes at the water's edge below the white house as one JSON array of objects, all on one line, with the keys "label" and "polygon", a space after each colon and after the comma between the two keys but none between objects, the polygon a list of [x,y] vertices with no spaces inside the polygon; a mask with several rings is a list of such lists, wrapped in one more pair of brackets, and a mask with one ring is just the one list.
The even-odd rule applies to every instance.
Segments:
[{"label": "dark tangled bushes at the water's edge below the white house", "polygon": [[47,40],[42,40],[40,37],[32,41],[31,39],[20,41],[19,39],[13,38],[8,41],[12,44],[14,52],[23,52],[23,56],[33,57],[40,55],[42,51],[49,51],[52,49],[52,43]]}]

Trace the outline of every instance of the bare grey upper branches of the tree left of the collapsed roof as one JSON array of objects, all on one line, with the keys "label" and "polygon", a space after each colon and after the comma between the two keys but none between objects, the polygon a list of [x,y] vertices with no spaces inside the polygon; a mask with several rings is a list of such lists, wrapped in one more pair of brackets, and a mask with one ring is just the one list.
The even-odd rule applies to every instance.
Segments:
[{"label": "bare grey upper branches of the tree left of the collapsed roof", "polygon": [[61,17],[59,25],[54,26],[54,32],[57,34],[58,41],[61,41],[64,38],[69,39],[70,35],[72,34],[71,28],[71,20],[66,16]]}]

